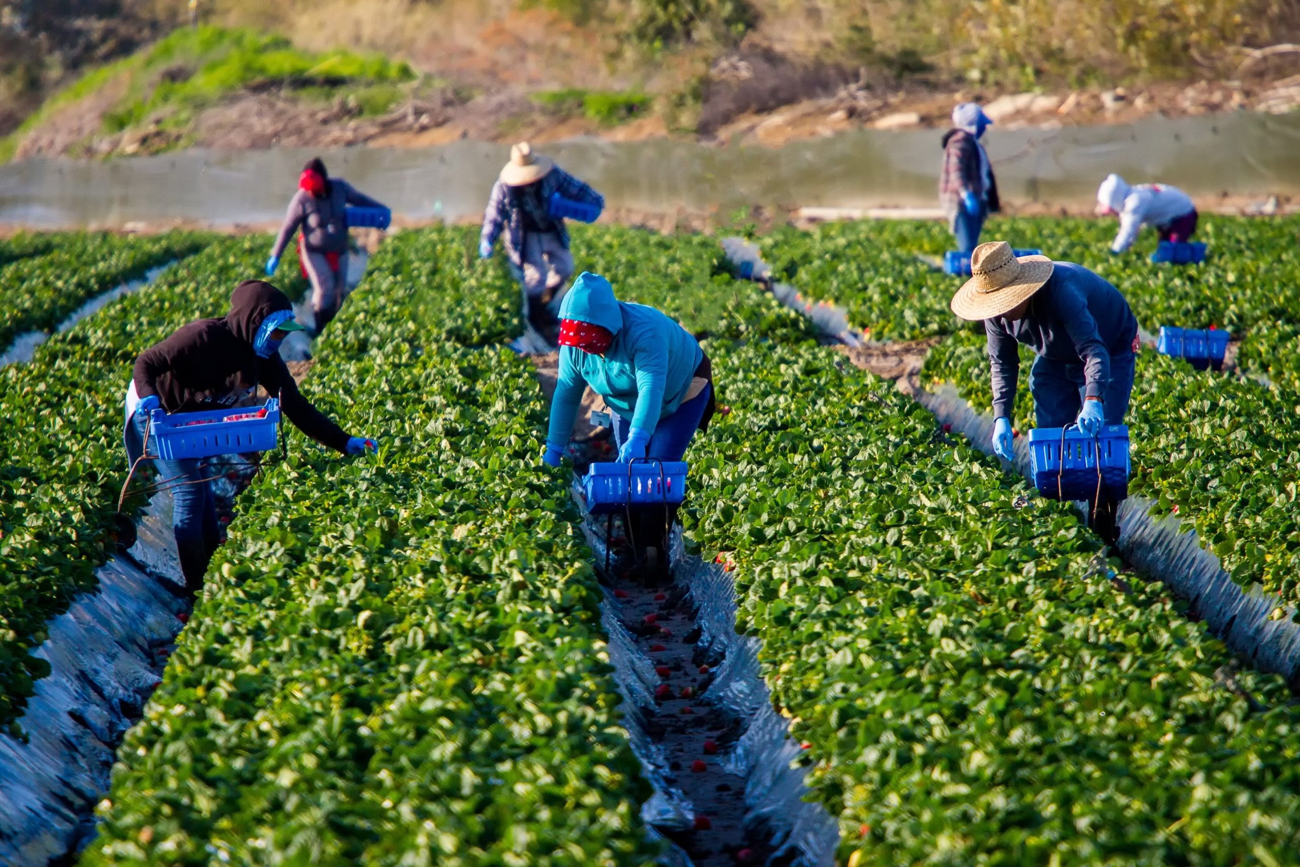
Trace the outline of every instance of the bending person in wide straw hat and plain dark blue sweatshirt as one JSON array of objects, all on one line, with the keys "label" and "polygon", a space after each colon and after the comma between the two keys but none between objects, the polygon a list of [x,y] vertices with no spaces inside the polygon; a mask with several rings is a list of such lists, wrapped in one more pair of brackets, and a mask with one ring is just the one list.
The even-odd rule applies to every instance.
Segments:
[{"label": "bending person in wide straw hat and plain dark blue sweatshirt", "polygon": [[[971,253],[971,278],[957,290],[953,312],[984,322],[993,380],[993,451],[1013,459],[1011,413],[1020,370],[1019,343],[1037,356],[1030,369],[1039,428],[1071,424],[1088,435],[1123,424],[1140,347],[1138,320],[1114,286],[1083,265],[1046,256],[1017,259],[1005,240]],[[1104,534],[1106,510],[1095,517]],[[1114,539],[1109,539],[1114,541]]]}]

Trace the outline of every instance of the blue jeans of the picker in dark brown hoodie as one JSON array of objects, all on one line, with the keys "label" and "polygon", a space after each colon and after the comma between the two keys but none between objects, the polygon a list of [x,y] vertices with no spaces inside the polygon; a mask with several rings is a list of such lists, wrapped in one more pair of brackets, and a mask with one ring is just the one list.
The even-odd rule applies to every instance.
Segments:
[{"label": "blue jeans of the picker in dark brown hoodie", "polygon": [[[144,452],[144,419],[131,416],[125,433],[126,458],[134,464]],[[146,464],[153,465],[157,484],[172,490],[172,533],[176,536],[181,573],[185,576],[186,589],[198,593],[203,586],[203,575],[208,571],[208,560],[221,542],[212,482],[200,481],[212,477],[214,471],[207,461],[196,458],[143,461],[140,469]]]}]

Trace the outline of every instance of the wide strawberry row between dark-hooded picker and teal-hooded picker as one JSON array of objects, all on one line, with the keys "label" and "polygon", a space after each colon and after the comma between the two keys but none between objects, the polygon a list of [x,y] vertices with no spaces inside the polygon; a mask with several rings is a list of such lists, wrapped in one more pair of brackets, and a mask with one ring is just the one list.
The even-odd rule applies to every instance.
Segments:
[{"label": "wide strawberry row between dark-hooded picker and teal-hooded picker", "polygon": [[386,244],[318,346],[312,390],[380,454],[292,434],[240,498],[83,863],[654,861],[541,391],[456,344],[519,328],[462,234]]}]

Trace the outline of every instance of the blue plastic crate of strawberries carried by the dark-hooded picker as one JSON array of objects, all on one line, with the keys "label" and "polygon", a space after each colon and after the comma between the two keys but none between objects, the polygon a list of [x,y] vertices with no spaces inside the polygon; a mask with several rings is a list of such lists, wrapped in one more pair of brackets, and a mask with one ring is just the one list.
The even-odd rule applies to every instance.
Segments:
[{"label": "blue plastic crate of strawberries carried by the dark-hooded picker", "polygon": [[[265,409],[261,419],[226,421],[230,416],[250,416]],[[280,400],[272,398],[261,407],[235,407],[213,412],[150,413],[151,451],[162,460],[214,458],[276,447],[280,428]]]}]

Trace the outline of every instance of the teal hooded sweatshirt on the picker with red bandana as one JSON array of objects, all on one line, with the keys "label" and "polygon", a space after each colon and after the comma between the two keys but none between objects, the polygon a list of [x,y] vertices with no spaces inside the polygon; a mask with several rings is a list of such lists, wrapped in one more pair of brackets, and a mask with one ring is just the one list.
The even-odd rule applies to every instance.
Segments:
[{"label": "teal hooded sweatshirt on the picker with red bandana", "polygon": [[614,334],[614,342],[603,356],[573,346],[560,347],[560,372],[546,437],[551,448],[563,450],[568,445],[586,386],[633,428],[653,434],[659,420],[681,406],[705,357],[686,329],[653,307],[618,300],[610,281],[590,272],[573,281],[560,304],[560,318],[599,325]]}]

